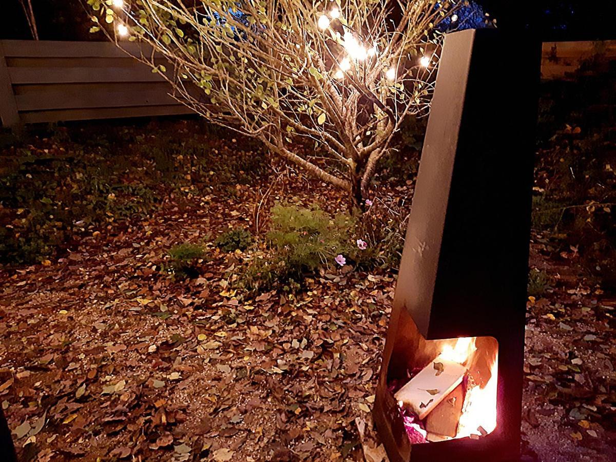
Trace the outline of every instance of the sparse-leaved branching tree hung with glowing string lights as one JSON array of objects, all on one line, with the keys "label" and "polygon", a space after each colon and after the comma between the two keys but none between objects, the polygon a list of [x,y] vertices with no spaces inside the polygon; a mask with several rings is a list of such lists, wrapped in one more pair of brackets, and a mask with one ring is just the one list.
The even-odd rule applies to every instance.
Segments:
[{"label": "sparse-leaved branching tree hung with glowing string lights", "polygon": [[140,59],[173,97],[356,204],[405,117],[428,109],[435,28],[456,8],[453,0],[88,3],[95,22],[115,25],[116,43],[129,36],[152,47]]}]

